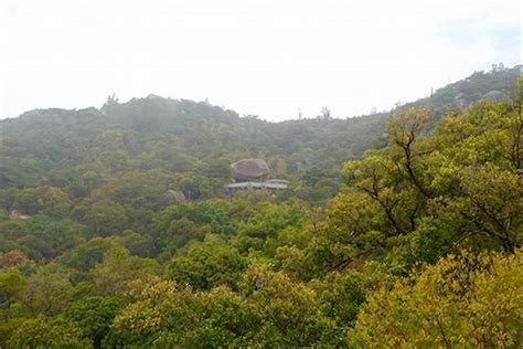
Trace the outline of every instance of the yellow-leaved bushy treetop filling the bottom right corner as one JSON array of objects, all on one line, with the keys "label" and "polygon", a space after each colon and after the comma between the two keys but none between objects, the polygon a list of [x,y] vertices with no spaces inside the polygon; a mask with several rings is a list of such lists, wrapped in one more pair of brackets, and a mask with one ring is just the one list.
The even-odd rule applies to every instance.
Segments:
[{"label": "yellow-leaved bushy treetop filling the bottom right corner", "polygon": [[351,341],[375,347],[522,345],[522,253],[448,256],[372,293]]}]

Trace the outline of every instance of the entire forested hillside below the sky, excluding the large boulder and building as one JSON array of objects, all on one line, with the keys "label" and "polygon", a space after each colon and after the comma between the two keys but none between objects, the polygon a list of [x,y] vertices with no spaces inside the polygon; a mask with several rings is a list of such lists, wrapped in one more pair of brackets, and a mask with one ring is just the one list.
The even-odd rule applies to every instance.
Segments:
[{"label": "entire forested hillside below the sky, excluding the large boulder and building", "polygon": [[[0,121],[0,348],[521,347],[519,75],[346,119],[150,95]],[[244,158],[289,188],[227,197]]]}]

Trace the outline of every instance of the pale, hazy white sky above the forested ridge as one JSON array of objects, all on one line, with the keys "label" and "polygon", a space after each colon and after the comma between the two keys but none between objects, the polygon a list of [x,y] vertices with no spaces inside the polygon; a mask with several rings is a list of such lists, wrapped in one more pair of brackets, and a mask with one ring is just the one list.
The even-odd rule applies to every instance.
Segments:
[{"label": "pale, hazy white sky above the forested ridge", "polygon": [[268,120],[388,110],[521,63],[517,0],[0,0],[0,118],[156,94]]}]

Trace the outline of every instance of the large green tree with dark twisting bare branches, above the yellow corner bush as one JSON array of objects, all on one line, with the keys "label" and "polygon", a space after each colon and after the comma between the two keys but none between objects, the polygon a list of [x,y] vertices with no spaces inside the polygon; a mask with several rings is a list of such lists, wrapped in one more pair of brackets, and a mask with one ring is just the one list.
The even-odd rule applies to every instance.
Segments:
[{"label": "large green tree with dark twisting bare branches, above the yellow corner bush", "polygon": [[424,133],[426,109],[395,115],[389,147],[345,165],[350,187],[310,228],[314,237],[302,257],[319,267],[310,275],[370,255],[405,275],[458,246],[521,246],[523,187],[508,123],[521,113],[514,108],[478,104],[444,119],[431,137]]}]

